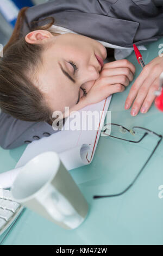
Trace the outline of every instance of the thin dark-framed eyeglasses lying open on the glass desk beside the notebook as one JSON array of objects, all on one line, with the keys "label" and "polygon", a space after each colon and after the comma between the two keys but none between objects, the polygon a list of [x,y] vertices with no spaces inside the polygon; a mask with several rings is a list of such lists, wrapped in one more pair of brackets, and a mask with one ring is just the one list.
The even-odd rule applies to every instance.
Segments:
[{"label": "thin dark-framed eyeglasses lying open on the glass desk beside the notebook", "polygon": [[125,190],[123,190],[120,193],[109,194],[106,196],[93,196],[93,199],[121,196],[121,194],[124,194],[126,191],[128,191],[129,188],[131,186],[133,186],[133,184],[135,183],[135,181],[137,180],[139,175],[142,173],[142,170],[146,167],[146,164],[149,162],[149,160],[153,156],[156,148],[158,148],[158,146],[161,142],[161,139],[162,139],[162,135],[159,135],[158,133],[156,133],[154,131],[148,130],[148,129],[140,127],[140,126],[134,126],[132,129],[129,130],[122,125],[113,124],[113,123],[105,124],[104,130],[101,132],[101,134],[102,134],[102,136],[109,136],[112,138],[121,139],[121,140],[127,141],[129,143],[140,143],[145,137],[153,136],[155,139],[157,139],[157,143],[156,143],[151,155],[149,155],[148,159],[143,164],[139,173],[135,176],[134,180],[129,184],[128,187],[126,187]]}]

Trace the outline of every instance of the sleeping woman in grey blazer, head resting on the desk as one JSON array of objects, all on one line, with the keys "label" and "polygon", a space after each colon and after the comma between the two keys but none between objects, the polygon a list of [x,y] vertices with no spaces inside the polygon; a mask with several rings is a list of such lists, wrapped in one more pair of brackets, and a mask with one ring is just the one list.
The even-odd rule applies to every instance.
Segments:
[{"label": "sleeping woman in grey blazer, head resting on the desk", "polygon": [[[159,0],[55,0],[22,8],[0,59],[1,147],[56,132],[56,110],[77,111],[123,92],[135,73],[124,58],[134,42],[161,38],[162,10]],[[107,57],[116,60],[104,64]],[[151,107],[162,71],[157,57],[137,77],[124,105],[132,105],[131,115]]]}]

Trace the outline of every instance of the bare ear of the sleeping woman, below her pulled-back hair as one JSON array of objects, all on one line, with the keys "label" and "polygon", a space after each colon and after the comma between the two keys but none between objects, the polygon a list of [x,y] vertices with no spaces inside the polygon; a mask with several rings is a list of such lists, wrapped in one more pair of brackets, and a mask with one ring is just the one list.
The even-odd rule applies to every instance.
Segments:
[{"label": "bare ear of the sleeping woman, below her pulled-back hair", "polygon": [[28,33],[25,37],[29,44],[41,44],[54,37],[51,32],[46,30],[36,30]]}]

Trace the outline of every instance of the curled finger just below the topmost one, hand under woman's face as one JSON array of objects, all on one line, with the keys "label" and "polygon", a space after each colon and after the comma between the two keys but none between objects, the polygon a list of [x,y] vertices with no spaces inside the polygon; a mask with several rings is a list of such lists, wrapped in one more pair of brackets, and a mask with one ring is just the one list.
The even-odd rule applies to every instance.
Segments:
[{"label": "curled finger just below the topmost one, hand under woman's face", "polygon": [[128,86],[129,85],[129,79],[128,79],[127,76],[124,76],[124,75],[102,77],[102,80],[103,80],[104,84],[121,83],[122,86]]}]

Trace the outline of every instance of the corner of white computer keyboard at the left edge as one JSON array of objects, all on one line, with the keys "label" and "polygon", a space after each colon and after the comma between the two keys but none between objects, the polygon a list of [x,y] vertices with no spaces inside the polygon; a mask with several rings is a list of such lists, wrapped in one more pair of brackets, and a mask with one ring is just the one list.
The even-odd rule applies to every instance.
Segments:
[{"label": "corner of white computer keyboard at the left edge", "polygon": [[22,210],[23,206],[12,199],[10,190],[0,188],[0,236],[16,221]]}]

